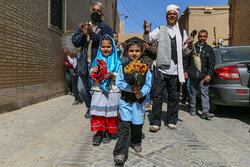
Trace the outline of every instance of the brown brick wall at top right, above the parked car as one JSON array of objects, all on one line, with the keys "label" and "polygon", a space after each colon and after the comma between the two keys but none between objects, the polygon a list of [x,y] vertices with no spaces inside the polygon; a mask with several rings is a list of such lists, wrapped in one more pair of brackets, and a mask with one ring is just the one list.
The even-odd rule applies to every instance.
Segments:
[{"label": "brown brick wall at top right, above the parked car", "polygon": [[250,1],[229,0],[230,12],[230,43],[233,45],[250,45]]}]

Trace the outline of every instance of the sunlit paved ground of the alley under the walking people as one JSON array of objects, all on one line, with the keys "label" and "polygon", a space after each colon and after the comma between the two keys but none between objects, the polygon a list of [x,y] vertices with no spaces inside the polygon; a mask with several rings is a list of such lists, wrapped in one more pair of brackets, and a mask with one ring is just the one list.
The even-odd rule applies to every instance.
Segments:
[{"label": "sunlit paved ground of the alley under the walking people", "polygon": [[[93,132],[84,119],[84,105],[72,106],[62,96],[0,115],[0,166],[114,166],[116,143],[92,146]],[[126,167],[247,167],[250,166],[248,122],[228,117],[206,121],[191,117],[181,106],[178,129],[162,126],[148,131],[145,119],[143,151],[129,152]],[[163,111],[166,110],[166,104]],[[164,113],[165,114],[165,113]]]}]

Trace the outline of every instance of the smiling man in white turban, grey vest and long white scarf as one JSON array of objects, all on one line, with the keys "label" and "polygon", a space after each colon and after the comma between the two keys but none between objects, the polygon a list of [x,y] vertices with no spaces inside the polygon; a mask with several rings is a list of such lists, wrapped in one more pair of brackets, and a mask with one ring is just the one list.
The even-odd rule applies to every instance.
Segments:
[{"label": "smiling man in white turban, grey vest and long white scarf", "polygon": [[[168,109],[165,125],[176,129],[179,110],[180,83],[185,82],[183,70],[183,53],[192,50],[193,38],[179,28],[178,16],[180,8],[169,5],[166,9],[167,25],[149,32],[149,24],[144,20],[143,38],[147,43],[158,42],[157,58],[154,62],[154,87],[152,120],[150,131],[157,132],[161,126],[162,104],[166,90],[168,91]],[[164,118],[165,119],[165,118]]]}]

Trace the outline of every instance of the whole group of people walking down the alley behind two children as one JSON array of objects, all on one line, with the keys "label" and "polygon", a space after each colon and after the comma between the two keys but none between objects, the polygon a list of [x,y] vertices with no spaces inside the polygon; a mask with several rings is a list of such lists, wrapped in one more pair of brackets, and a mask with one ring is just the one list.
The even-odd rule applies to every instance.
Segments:
[{"label": "whole group of people walking down the alley behind two children", "polygon": [[[199,89],[201,117],[214,117],[209,113],[208,88],[214,53],[206,43],[208,32],[200,30],[198,42],[193,44],[193,37],[178,25],[179,14],[178,6],[169,5],[167,25],[149,32],[149,24],[144,20],[143,39],[133,37],[119,42],[118,34],[102,22],[103,5],[95,2],[89,12],[91,21],[80,24],[72,37],[72,43],[81,47],[81,52],[65,51],[66,80],[69,93],[75,97],[73,105],[85,103],[85,117],[90,118],[91,131],[96,132],[92,140],[94,146],[109,143],[117,136],[113,151],[117,164],[127,160],[129,147],[135,152],[142,151],[142,127],[151,99],[151,132],[160,130],[162,120],[169,129],[177,129],[180,85],[182,102],[188,101],[190,115],[197,113]],[[91,57],[91,62],[87,57]],[[137,68],[140,63],[140,73],[131,71],[131,66]],[[139,75],[137,83],[135,78]],[[166,99],[167,115],[162,119]]]}]

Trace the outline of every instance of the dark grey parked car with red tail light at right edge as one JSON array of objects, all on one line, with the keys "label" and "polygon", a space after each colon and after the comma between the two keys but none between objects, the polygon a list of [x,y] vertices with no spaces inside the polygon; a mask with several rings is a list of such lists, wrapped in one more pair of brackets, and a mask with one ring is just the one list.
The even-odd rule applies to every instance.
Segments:
[{"label": "dark grey parked car with red tail light at right edge", "polygon": [[217,46],[214,53],[211,110],[216,105],[250,107],[250,46]]}]

